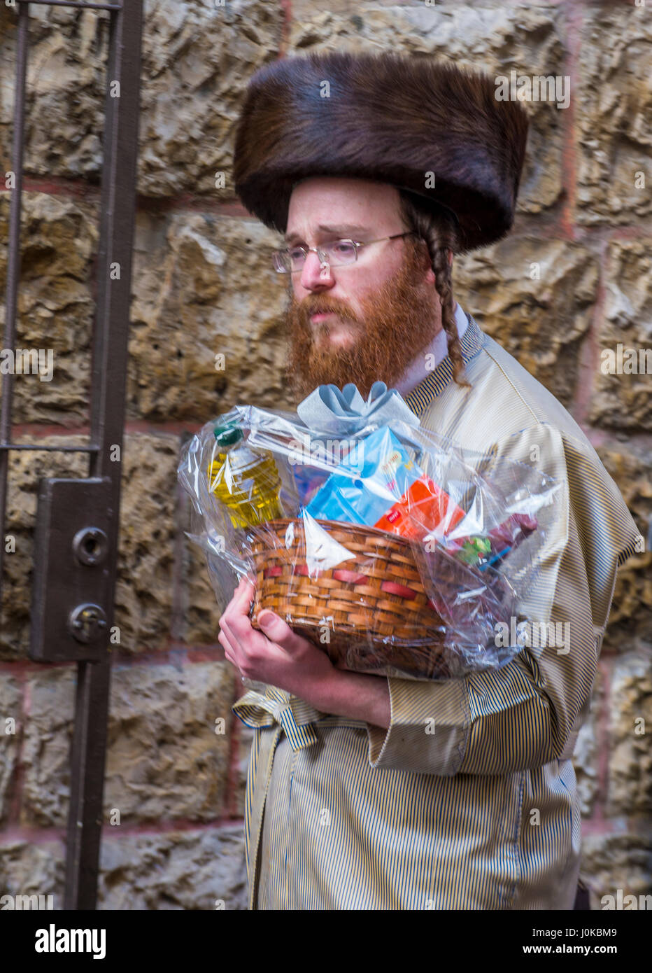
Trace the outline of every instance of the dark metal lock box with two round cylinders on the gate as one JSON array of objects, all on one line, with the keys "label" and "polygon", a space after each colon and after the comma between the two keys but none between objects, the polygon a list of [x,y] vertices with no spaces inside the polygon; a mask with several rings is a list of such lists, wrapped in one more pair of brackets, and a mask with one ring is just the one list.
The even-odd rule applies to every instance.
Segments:
[{"label": "dark metal lock box with two round cylinders on the gate", "polygon": [[106,657],[112,515],[108,477],[40,481],[28,652],[35,662]]}]

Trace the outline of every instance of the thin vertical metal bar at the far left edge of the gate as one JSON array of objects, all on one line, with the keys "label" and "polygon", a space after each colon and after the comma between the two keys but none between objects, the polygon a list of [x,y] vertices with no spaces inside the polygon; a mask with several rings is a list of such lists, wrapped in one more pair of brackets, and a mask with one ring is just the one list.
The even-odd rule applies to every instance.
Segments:
[{"label": "thin vertical metal bar at the far left edge of the gate", "polygon": [[[25,134],[25,77],[27,74],[27,25],[29,12],[26,7],[18,10],[18,39],[16,62],[16,99],[14,101],[14,136],[12,140],[12,171],[16,176],[16,186],[12,190],[9,209],[9,252],[7,255],[7,298],[5,303],[5,343],[4,347],[13,348],[16,344],[16,307],[18,276],[20,273],[20,203],[22,198],[22,155]],[[9,443],[12,436],[12,401],[14,397],[14,375],[9,372],[3,377],[2,406],[0,407],[0,440]],[[9,453],[0,451],[0,526],[5,529],[7,513],[7,472]],[[0,538],[0,586],[4,563],[5,543]]]}]

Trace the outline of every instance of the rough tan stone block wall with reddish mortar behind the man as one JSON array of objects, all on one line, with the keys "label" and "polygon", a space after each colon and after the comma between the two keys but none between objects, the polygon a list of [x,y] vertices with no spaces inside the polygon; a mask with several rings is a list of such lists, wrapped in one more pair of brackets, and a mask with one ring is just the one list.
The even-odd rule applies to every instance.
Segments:
[{"label": "rough tan stone block wall with reddish mortar behind the man", "polygon": [[[203,556],[184,533],[189,509],[176,467],[184,437],[236,402],[292,408],[281,380],[285,290],[270,265],[276,238],[234,198],[233,129],[259,65],[326,49],[394,48],[450,56],[492,75],[570,79],[567,108],[528,105],[514,231],[456,260],[455,293],[583,426],[645,539],[617,579],[574,765],[582,874],[594,908],[618,887],[649,892],[651,382],[649,374],[604,373],[601,351],[618,342],[652,346],[652,22],[646,8],[615,0],[329,0],[327,8],[307,0],[145,4],[120,645],[113,646],[99,907],[246,906],[251,738],[231,714],[242,686],[217,641],[227,598],[216,602]],[[56,367],[50,382],[16,380],[14,415],[23,441],[81,442],[108,15],[32,5],[30,18],[17,346],[48,343]],[[3,173],[11,169],[16,20],[0,6]],[[9,198],[0,193],[0,280]],[[57,908],[75,667],[26,657],[33,527],[38,477],[85,474],[79,454],[11,454],[5,535],[16,538],[16,551],[5,558],[0,631],[0,893],[52,893]],[[221,718],[223,734],[215,732]],[[16,733],[5,732],[11,719]]]}]

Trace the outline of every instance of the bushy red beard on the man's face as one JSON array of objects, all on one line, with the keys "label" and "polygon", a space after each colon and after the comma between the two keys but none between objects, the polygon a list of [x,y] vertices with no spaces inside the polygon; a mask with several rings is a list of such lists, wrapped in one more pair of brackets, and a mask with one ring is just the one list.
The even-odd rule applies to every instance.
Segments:
[{"label": "bushy red beard on the man's face", "polygon": [[[326,291],[309,294],[300,304],[291,292],[286,309],[291,346],[285,379],[297,402],[317,385],[329,382],[342,388],[352,381],[366,398],[374,381],[384,381],[391,388],[417,355],[425,352],[440,330],[440,307],[434,288],[423,282],[423,255],[409,240],[405,251],[403,264],[395,275],[380,290],[360,300],[360,317]],[[331,344],[327,339],[327,319],[311,325],[311,314],[326,311],[353,322],[352,344]],[[322,331],[326,340],[315,342]]]}]

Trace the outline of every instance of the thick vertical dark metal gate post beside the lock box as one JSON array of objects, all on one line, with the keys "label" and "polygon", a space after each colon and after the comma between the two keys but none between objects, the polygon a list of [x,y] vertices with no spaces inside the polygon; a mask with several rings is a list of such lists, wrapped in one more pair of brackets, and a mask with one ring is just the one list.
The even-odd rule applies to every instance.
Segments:
[{"label": "thick vertical dark metal gate post beside the lock box", "polygon": [[[93,329],[90,435],[99,450],[89,457],[89,476],[111,481],[114,511],[110,551],[107,631],[113,626],[121,463],[126,386],[131,255],[136,205],[136,158],[140,91],[142,0],[124,0],[112,13],[103,137],[97,305]],[[110,94],[120,82],[120,96]],[[111,278],[112,265],[120,277]],[[115,275],[114,275],[115,276]],[[94,909],[102,831],[102,790],[106,759],[110,663],[78,665],[78,693],[72,746],[70,811],[66,850],[64,909]]]}]

